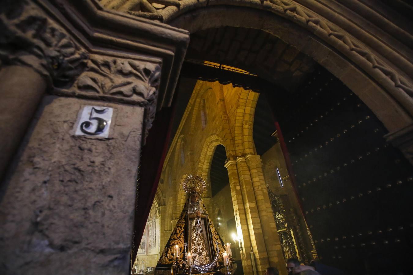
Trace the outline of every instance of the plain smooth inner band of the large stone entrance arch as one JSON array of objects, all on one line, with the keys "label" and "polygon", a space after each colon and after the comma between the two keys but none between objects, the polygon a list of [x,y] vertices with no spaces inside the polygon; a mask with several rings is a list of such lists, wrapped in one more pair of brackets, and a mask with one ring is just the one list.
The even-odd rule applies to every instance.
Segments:
[{"label": "plain smooth inner band of the large stone entrance arch", "polygon": [[[349,40],[350,38],[344,34],[339,35],[331,31],[321,19],[319,19],[320,25],[325,25],[327,30],[321,26],[316,27],[310,19],[307,20],[306,28],[314,28],[314,30],[306,30],[297,25],[299,16],[297,14],[295,16],[293,20],[297,21],[293,23],[282,16],[274,16],[256,9],[216,6],[188,12],[169,23],[187,29],[191,33],[219,26],[256,28],[271,33],[311,56],[342,80],[373,110],[389,132],[411,124],[413,114],[411,88],[406,86],[407,82],[406,85],[399,85],[399,80],[394,75],[396,73],[393,74],[390,68],[385,69],[379,65],[380,62],[376,61],[378,58],[370,53],[373,52],[372,48],[356,47],[355,40]],[[205,20],[211,17],[216,20]],[[250,20],[246,20],[247,18]],[[252,20],[256,18],[259,20]],[[341,40],[335,35],[339,35]]]}]

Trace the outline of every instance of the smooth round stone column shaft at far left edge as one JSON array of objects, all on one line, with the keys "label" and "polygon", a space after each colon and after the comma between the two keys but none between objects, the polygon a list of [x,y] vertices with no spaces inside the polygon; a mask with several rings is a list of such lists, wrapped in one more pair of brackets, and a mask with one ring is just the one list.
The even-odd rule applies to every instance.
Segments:
[{"label": "smooth round stone column shaft at far left edge", "polygon": [[45,93],[46,81],[25,66],[0,70],[0,179]]}]

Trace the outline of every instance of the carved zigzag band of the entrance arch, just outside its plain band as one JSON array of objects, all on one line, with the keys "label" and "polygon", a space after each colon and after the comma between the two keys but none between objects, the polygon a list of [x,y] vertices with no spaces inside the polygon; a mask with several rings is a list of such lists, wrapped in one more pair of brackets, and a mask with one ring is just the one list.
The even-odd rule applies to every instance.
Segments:
[{"label": "carved zigzag band of the entrance arch, just outside its plain band", "polygon": [[[241,0],[233,2],[216,0],[211,3],[192,0],[101,0],[101,4],[107,9],[116,9],[163,22],[171,22],[181,14],[205,7],[208,4],[216,7],[218,5],[232,5],[267,10],[309,30],[347,56],[366,71],[371,78],[385,87],[389,94],[412,114],[413,86],[411,79],[408,78],[408,75],[411,75],[409,73],[412,68],[411,62],[397,49],[388,47],[385,42],[379,41],[380,39],[377,40],[371,35],[367,35],[362,26],[354,23],[351,18],[339,14],[335,9],[327,6],[321,8],[316,1],[304,2],[305,4],[303,1],[295,0]],[[343,9],[348,9],[345,7],[345,3],[342,6]],[[365,14],[376,13],[365,5],[361,5],[359,8],[363,9],[363,11],[358,10],[359,14],[363,14],[363,12]],[[387,20],[385,16],[383,20]],[[389,28],[394,28],[392,32],[400,31],[395,25],[389,26]],[[354,32],[354,35],[351,32]],[[411,36],[406,34],[401,39],[408,42],[411,40]],[[392,59],[387,57],[385,60],[380,56],[392,56]],[[400,66],[400,64],[404,65]],[[400,69],[403,73],[400,73]]]}]

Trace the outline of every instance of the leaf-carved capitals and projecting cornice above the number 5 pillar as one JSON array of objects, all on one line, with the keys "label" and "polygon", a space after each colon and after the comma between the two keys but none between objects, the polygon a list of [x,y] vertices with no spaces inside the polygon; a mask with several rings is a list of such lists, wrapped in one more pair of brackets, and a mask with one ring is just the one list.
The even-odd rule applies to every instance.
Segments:
[{"label": "leaf-carved capitals and projecting cornice above the number 5 pillar", "polygon": [[0,29],[2,63],[33,68],[48,92],[144,107],[144,143],[156,111],[171,103],[189,41],[186,31],[125,19],[90,0],[7,1]]}]

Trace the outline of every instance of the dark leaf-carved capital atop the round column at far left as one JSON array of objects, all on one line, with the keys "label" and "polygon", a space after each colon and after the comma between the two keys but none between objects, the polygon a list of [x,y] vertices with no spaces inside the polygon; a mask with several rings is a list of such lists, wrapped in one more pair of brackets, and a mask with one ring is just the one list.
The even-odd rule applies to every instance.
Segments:
[{"label": "dark leaf-carved capital atop the round column at far left", "polygon": [[88,53],[27,0],[2,3],[0,59],[33,68],[55,87],[70,84],[85,68]]}]

